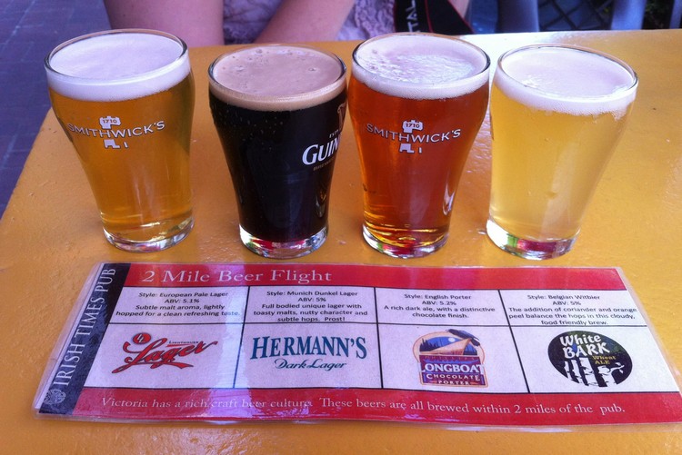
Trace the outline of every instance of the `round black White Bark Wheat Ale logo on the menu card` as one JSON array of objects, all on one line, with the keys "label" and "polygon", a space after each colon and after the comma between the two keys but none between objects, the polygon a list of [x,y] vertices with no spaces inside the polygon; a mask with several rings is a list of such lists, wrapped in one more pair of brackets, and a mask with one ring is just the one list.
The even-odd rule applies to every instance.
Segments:
[{"label": "round black White Bark Wheat Ale logo on the menu card", "polygon": [[612,387],[632,372],[632,359],[617,341],[592,331],[567,331],[547,348],[549,361],[567,379],[587,387]]}]

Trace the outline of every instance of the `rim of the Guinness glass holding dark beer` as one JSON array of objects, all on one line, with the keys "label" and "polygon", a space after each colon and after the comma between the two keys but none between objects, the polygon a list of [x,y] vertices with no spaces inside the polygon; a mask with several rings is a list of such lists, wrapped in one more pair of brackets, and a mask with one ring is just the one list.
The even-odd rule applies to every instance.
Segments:
[{"label": "rim of the Guinness glass holding dark beer", "polygon": [[[223,59],[225,59],[228,55],[232,54],[237,54],[239,52],[244,52],[248,49],[256,49],[256,48],[276,48],[276,47],[294,47],[294,48],[299,48],[299,49],[307,49],[314,51],[318,54],[324,54],[330,58],[332,58],[336,63],[338,63],[338,68],[339,68],[339,74],[336,77],[336,79],[329,84],[326,84],[323,87],[317,88],[315,90],[310,90],[308,92],[303,92],[299,94],[290,94],[290,95],[260,95],[260,94],[247,94],[245,92],[236,90],[234,88],[226,87],[224,84],[221,84],[216,80],[216,77],[214,76],[214,70],[216,68],[216,65],[219,64]],[[236,101],[235,98],[232,98],[232,100],[236,101],[235,104],[242,105],[244,104],[243,107],[250,107],[253,108],[254,104],[266,104],[270,106],[276,106],[279,104],[286,105],[286,106],[295,106],[296,108],[305,108],[309,105],[317,105],[320,104],[325,100],[321,101],[320,103],[315,103],[315,104],[310,104],[306,103],[305,100],[314,98],[314,99],[319,99],[321,96],[324,94],[330,94],[330,97],[332,94],[336,94],[336,91],[340,91],[342,86],[346,85],[346,63],[339,57],[338,55],[334,54],[333,52],[328,52],[324,49],[320,49],[319,47],[313,46],[313,45],[301,45],[298,43],[293,43],[293,44],[284,44],[284,43],[275,43],[275,44],[256,44],[256,45],[244,45],[240,46],[236,49],[232,49],[227,51],[226,53],[220,54],[216,57],[216,59],[208,66],[208,80],[211,86],[216,86],[217,90],[224,92],[228,95],[235,96],[238,100],[243,101],[243,103],[239,103]],[[297,100],[303,100],[301,103],[296,103]],[[289,107],[287,107],[287,110],[291,110]]]}]

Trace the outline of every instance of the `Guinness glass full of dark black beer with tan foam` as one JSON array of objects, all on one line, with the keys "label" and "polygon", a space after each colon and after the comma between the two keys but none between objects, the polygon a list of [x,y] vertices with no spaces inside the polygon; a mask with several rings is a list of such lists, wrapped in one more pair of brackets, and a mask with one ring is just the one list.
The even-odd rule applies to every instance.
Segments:
[{"label": "Guinness glass full of dark black beer with tan foam", "polygon": [[209,70],[209,102],[252,252],[294,258],[326,240],[346,114],[346,66],[302,45],[247,46]]}]

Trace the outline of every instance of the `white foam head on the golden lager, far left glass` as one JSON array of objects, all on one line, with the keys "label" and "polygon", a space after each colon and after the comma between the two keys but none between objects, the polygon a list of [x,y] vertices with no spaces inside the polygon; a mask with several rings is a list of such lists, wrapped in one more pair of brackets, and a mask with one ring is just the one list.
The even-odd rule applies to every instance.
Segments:
[{"label": "white foam head on the golden lager, far left glass", "polygon": [[115,30],[58,46],[45,61],[47,84],[85,101],[120,101],[163,92],[190,72],[186,45],[172,35]]}]

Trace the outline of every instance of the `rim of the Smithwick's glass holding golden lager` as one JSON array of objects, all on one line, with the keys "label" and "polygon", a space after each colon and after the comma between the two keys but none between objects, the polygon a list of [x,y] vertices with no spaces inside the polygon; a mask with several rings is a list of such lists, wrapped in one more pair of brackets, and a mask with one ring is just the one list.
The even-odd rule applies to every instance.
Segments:
[{"label": "rim of the Smithwick's glass holding golden lager", "polygon": [[[88,39],[98,38],[98,37],[105,36],[105,35],[156,35],[156,36],[161,36],[161,37],[165,37],[171,41],[174,41],[177,45],[179,45],[178,53],[177,53],[176,57],[171,62],[169,62],[167,64],[162,64],[155,69],[147,70],[147,71],[144,71],[144,72],[141,72],[138,74],[132,74],[132,75],[126,75],[126,76],[120,76],[120,77],[109,77],[109,78],[84,77],[84,76],[80,76],[80,75],[66,74],[62,71],[56,70],[53,67],[53,65],[52,65],[53,57],[56,54],[58,54],[60,51],[64,50],[66,47],[68,47],[70,45],[75,45],[76,43],[81,43],[81,42],[88,40]],[[45,56],[45,62],[44,62],[45,71],[48,73],[48,76],[51,75],[56,80],[64,81],[66,84],[74,84],[74,85],[78,84],[81,86],[91,86],[91,87],[108,86],[108,87],[112,87],[112,89],[114,89],[114,90],[115,90],[115,87],[123,87],[123,86],[129,85],[129,84],[139,84],[141,82],[145,82],[147,80],[152,80],[152,79],[155,79],[159,76],[163,76],[164,74],[171,74],[172,72],[176,71],[179,67],[183,66],[184,64],[187,65],[187,73],[189,73],[190,72],[189,55],[188,55],[188,47],[187,47],[185,41],[183,41],[181,38],[179,38],[176,35],[172,35],[172,34],[162,32],[159,30],[152,30],[152,29],[146,29],[146,28],[122,28],[122,29],[114,29],[114,30],[104,30],[104,31],[95,32],[95,33],[91,33],[91,34],[76,36],[75,38],[69,39],[60,45],[56,45],[55,48],[52,51],[50,51],[49,54],[47,54]],[[186,77],[186,74],[183,75],[183,78],[184,77]],[[162,91],[165,88],[167,88],[167,87],[161,88],[159,91]],[[131,96],[131,97],[134,97],[134,96]]]}]

